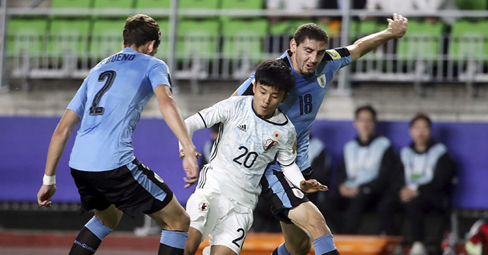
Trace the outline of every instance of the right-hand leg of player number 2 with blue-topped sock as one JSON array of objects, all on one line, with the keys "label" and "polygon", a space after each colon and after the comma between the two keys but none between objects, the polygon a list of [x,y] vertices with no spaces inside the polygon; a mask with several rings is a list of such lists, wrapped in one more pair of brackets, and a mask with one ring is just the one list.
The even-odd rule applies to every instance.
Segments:
[{"label": "right-hand leg of player number 2 with blue-topped sock", "polygon": [[186,214],[180,202],[173,195],[171,201],[163,209],[149,214],[163,228],[158,254],[183,254],[190,216]]}]

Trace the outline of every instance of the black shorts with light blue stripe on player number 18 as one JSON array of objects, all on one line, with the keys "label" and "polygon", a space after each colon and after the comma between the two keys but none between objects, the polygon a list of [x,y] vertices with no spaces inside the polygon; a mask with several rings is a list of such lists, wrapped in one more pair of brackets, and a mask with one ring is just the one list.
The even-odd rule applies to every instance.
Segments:
[{"label": "black shorts with light blue stripe on player number 18", "polygon": [[[305,180],[310,179],[311,173],[311,168],[302,171]],[[301,189],[288,182],[282,171],[273,170],[272,165],[268,166],[261,178],[261,187],[261,196],[270,201],[272,214],[284,223],[292,224],[288,218],[290,209],[309,201]]]}]

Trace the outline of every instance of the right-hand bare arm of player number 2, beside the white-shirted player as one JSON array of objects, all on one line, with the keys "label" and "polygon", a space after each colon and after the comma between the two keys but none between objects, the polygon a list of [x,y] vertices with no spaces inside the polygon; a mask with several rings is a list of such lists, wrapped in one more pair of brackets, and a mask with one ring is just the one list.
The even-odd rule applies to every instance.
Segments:
[{"label": "right-hand bare arm of player number 2, beside the white-shirted player", "polygon": [[178,109],[175,100],[173,100],[173,95],[168,86],[157,86],[154,89],[154,93],[156,94],[159,110],[163,114],[166,124],[168,124],[171,131],[176,135],[176,138],[178,138],[185,151],[186,155],[183,158],[183,169],[186,173],[185,181],[193,183],[197,179],[198,173],[196,159],[197,152],[195,150],[195,145],[191,142],[191,139],[186,132],[186,126],[180,110]]}]

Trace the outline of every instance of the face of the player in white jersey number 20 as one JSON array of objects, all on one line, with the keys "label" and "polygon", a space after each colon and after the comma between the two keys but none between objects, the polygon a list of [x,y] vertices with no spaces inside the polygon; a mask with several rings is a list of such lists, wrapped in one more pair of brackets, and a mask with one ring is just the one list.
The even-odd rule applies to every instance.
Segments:
[{"label": "face of the player in white jersey number 20", "polygon": [[277,91],[276,88],[263,85],[259,82],[254,83],[252,91],[254,92],[252,108],[265,119],[272,117],[279,104],[286,98],[284,91]]}]

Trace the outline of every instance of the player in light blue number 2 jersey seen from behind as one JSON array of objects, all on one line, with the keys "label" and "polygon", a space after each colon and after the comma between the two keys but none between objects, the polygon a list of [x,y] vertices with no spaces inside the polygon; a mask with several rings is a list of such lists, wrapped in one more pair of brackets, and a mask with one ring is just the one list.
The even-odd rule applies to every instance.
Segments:
[{"label": "player in light blue number 2 jersey seen from behind", "polygon": [[90,70],[53,133],[38,204],[51,206],[58,162],[81,121],[69,167],[82,211],[95,210],[69,254],[94,254],[122,214],[148,214],[163,228],[159,254],[183,254],[189,216],[162,178],[137,160],[131,144],[141,111],[156,94],[166,124],[187,151],[183,160],[186,180],[195,182],[195,146],[172,98],[168,67],[153,57],[160,35],[151,17],[129,17],[123,29],[123,49]]}]

